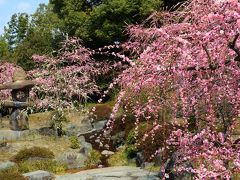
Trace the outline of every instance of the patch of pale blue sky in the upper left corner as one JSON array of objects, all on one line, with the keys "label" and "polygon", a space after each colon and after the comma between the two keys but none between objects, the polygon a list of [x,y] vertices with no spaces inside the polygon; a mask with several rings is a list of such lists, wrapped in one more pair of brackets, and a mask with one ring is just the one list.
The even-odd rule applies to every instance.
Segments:
[{"label": "patch of pale blue sky in the upper left corner", "polygon": [[0,0],[0,34],[14,13],[32,14],[40,3],[47,4],[48,0]]}]

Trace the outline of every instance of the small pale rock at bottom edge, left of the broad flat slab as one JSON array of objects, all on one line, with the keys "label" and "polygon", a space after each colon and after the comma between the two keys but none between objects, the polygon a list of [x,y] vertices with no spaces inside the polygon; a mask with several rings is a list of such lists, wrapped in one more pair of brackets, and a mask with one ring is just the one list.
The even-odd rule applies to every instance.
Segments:
[{"label": "small pale rock at bottom edge, left of the broad flat slab", "polygon": [[23,174],[28,180],[53,180],[54,175],[47,171],[34,171]]}]

